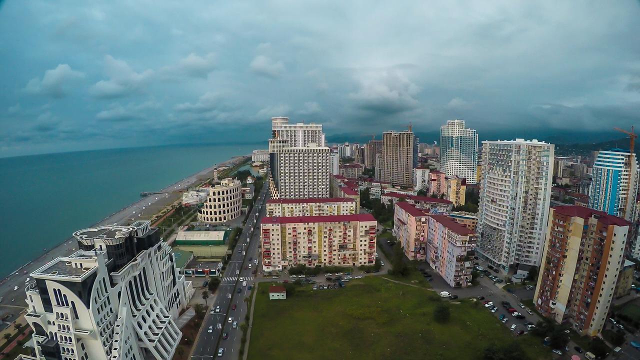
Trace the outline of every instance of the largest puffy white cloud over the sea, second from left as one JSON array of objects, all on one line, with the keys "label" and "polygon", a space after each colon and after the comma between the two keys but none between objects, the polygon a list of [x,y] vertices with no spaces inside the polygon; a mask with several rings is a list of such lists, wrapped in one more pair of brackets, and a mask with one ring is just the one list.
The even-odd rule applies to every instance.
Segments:
[{"label": "largest puffy white cloud over the sea, second from left", "polygon": [[104,68],[108,80],[100,80],[90,88],[95,97],[115,98],[136,92],[153,76],[151,69],[135,72],[124,60],[117,60],[111,55],[104,57]]}]

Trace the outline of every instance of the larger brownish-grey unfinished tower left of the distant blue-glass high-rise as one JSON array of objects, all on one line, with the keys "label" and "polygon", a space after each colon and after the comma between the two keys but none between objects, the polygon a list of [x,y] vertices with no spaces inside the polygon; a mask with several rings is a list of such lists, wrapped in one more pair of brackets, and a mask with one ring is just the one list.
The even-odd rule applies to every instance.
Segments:
[{"label": "larger brownish-grey unfinished tower left of the distant blue-glass high-rise", "polygon": [[382,133],[380,180],[392,185],[413,186],[415,151],[413,131]]}]

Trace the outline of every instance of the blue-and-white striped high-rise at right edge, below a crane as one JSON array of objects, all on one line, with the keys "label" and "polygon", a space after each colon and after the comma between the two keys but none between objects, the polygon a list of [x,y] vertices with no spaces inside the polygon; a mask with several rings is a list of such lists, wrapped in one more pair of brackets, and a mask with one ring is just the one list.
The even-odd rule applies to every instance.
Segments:
[{"label": "blue-and-white striped high-rise at right edge, below a crane", "polygon": [[632,220],[637,190],[636,154],[621,149],[599,151],[591,170],[589,208]]}]

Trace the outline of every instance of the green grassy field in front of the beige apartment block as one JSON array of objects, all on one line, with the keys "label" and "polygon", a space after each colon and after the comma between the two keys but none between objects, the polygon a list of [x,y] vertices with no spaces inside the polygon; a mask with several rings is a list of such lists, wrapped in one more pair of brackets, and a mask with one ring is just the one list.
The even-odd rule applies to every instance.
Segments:
[{"label": "green grassy field in front of the beige apartment block", "polygon": [[433,321],[434,291],[369,276],[338,290],[298,288],[269,300],[259,284],[249,359],[481,359],[491,342],[517,341],[531,359],[549,359],[540,339],[515,338],[480,304],[450,304]]}]

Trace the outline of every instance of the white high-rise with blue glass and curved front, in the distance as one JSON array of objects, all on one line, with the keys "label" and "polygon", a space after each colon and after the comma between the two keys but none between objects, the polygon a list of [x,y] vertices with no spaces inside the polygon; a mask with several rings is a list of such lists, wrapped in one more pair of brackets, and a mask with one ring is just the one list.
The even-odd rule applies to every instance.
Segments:
[{"label": "white high-rise with blue glass and curved front, in the distance", "polygon": [[478,135],[465,129],[465,120],[449,120],[440,126],[440,170],[458,175],[475,184],[478,163]]}]

